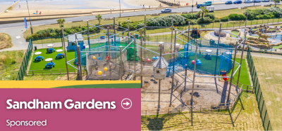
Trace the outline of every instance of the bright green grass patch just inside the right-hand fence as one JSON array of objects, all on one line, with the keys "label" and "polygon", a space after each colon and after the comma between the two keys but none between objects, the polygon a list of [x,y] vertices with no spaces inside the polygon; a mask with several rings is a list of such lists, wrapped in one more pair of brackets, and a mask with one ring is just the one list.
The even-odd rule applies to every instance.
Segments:
[{"label": "bright green grass patch just inside the right-hand fence", "polygon": [[[236,58],[236,62],[240,63],[240,58]],[[235,70],[237,69],[236,67],[234,68]],[[230,70],[228,72],[228,76],[231,76],[231,72],[232,70]],[[233,79],[235,81],[238,80],[238,73],[239,73],[239,70],[236,72],[236,74],[234,75]],[[244,84],[244,85],[251,85],[251,82],[250,82],[250,78],[249,78],[249,74],[248,74],[248,70],[247,70],[247,63],[245,61],[245,59],[242,60],[242,67],[241,67],[241,73],[240,73],[240,79],[239,79],[239,82]]]}]

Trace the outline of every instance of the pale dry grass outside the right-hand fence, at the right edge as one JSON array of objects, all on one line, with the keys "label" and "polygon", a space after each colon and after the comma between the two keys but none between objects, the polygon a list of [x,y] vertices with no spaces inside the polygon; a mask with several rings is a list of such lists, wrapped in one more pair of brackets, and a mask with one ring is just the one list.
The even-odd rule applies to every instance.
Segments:
[{"label": "pale dry grass outside the right-hand fence, at the right edge", "polygon": [[252,57],[273,130],[282,129],[282,60]]}]

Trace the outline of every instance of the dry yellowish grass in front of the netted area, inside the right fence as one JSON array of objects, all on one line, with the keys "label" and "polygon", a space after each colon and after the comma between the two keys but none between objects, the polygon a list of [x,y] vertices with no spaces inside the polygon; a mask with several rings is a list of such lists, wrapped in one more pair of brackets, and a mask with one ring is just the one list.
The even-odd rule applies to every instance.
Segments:
[{"label": "dry yellowish grass in front of the netted area, inside the right fence", "polygon": [[[191,113],[170,113],[169,115],[141,116],[141,130],[264,130],[255,94],[243,92],[240,97],[245,110],[237,104],[231,118],[228,111],[193,113],[193,126],[191,126]],[[145,111],[142,111],[145,115]]]}]

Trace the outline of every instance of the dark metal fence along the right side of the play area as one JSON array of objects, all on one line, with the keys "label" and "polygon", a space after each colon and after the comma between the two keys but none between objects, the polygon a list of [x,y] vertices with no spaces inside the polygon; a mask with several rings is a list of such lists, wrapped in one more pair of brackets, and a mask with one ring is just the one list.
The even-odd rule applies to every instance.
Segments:
[{"label": "dark metal fence along the right side of the play area", "polygon": [[257,71],[255,69],[254,62],[252,61],[252,55],[250,53],[250,48],[247,50],[247,62],[250,68],[250,74],[252,76],[252,83],[254,84],[255,95],[257,98],[257,105],[259,107],[259,114],[262,118],[262,124],[264,130],[272,130],[272,126],[269,119],[269,114],[267,113],[266,105],[264,102],[264,96],[262,95],[262,89],[260,88],[259,78],[257,78]]}]

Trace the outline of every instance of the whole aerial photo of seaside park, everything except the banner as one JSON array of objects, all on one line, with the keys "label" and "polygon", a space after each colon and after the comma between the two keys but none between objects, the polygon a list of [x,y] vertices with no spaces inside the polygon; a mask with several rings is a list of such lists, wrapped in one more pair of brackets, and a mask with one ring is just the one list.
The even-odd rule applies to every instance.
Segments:
[{"label": "whole aerial photo of seaside park, everything except the banner", "polygon": [[141,81],[141,130],[282,129],[279,0],[0,4],[0,81]]}]

